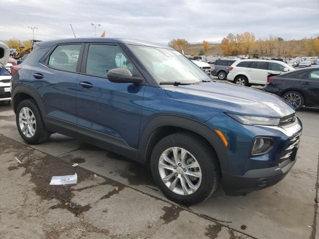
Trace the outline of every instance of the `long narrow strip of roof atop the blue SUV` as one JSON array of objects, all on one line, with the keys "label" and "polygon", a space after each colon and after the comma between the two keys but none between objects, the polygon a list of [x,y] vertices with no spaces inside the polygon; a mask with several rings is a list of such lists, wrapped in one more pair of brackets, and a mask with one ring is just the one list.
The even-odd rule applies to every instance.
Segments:
[{"label": "long narrow strip of roof atop the blue SUV", "polygon": [[166,49],[172,49],[168,46],[163,46],[157,43],[140,41],[134,39],[123,39],[123,38],[106,38],[106,37],[87,37],[87,38],[66,38],[66,39],[57,39],[51,41],[40,41],[35,43],[38,46],[54,46],[57,44],[63,43],[124,43],[130,45],[139,45],[139,46],[151,46],[151,47],[160,47]]}]

